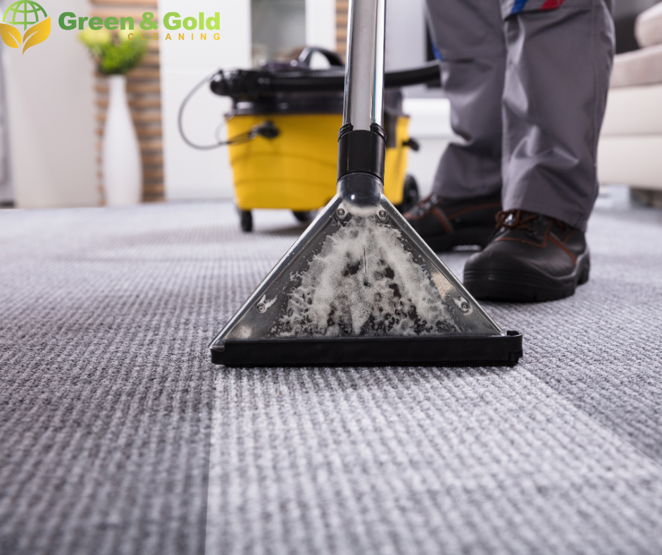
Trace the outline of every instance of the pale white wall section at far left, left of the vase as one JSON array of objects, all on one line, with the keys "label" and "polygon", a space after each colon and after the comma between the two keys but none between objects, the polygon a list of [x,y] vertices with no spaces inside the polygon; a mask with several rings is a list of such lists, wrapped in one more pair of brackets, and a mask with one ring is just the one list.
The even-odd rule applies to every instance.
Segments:
[{"label": "pale white wall section at far left, left of the vase", "polygon": [[[6,2],[1,6],[6,9]],[[21,208],[99,204],[93,64],[63,11],[88,13],[85,0],[49,0],[51,35],[22,54],[2,44],[11,177]]]}]

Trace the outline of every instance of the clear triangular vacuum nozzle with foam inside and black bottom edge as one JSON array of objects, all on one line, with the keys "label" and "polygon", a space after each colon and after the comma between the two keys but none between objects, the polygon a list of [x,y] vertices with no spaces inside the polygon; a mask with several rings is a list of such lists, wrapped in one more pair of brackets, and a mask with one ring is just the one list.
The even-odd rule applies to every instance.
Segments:
[{"label": "clear triangular vacuum nozzle with foam inside and black bottom edge", "polygon": [[522,336],[494,323],[386,197],[358,216],[336,196],[210,347],[225,366],[489,366],[515,364]]}]

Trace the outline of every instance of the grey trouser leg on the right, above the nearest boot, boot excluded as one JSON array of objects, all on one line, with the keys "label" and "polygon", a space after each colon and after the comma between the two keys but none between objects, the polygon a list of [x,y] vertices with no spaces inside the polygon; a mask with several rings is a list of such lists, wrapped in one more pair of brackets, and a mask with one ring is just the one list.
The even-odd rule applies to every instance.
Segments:
[{"label": "grey trouser leg on the right, above the nearest boot, boot excluded", "polygon": [[566,0],[554,10],[510,15],[505,28],[504,209],[585,231],[598,193],[611,13],[604,0]]}]

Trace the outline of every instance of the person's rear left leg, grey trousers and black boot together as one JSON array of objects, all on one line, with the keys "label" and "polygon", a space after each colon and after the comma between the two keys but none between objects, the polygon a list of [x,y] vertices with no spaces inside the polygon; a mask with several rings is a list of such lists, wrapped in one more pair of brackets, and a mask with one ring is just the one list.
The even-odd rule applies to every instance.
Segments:
[{"label": "person's rear left leg, grey trousers and black boot together", "polygon": [[501,210],[501,94],[506,46],[499,0],[427,0],[430,33],[442,58],[451,125],[432,195],[406,213],[436,251],[485,247]]}]

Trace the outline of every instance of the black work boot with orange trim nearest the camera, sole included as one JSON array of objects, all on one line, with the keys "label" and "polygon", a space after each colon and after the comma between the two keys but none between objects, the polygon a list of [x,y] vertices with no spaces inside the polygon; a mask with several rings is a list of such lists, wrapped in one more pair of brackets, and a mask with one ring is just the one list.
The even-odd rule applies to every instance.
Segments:
[{"label": "black work boot with orange trim nearest the camera, sole included", "polygon": [[510,210],[497,232],[464,266],[464,286],[476,299],[553,301],[589,280],[585,235],[559,220]]}]

